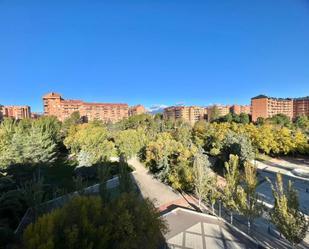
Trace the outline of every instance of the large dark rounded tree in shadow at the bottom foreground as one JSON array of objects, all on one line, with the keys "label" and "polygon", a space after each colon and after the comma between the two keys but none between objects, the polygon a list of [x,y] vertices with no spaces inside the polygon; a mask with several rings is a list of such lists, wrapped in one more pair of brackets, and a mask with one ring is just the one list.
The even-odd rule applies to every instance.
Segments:
[{"label": "large dark rounded tree in shadow at the bottom foreground", "polygon": [[83,196],[39,217],[24,231],[23,242],[26,249],[156,249],[166,230],[148,199],[131,193],[106,203]]}]

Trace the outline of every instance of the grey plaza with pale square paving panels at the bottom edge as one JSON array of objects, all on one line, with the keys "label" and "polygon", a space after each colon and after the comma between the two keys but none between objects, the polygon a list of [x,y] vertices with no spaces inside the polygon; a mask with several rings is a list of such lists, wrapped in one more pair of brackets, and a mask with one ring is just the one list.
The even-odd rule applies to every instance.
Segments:
[{"label": "grey plaza with pale square paving panels at the bottom edge", "polygon": [[170,248],[257,248],[249,237],[211,215],[176,208],[163,217],[169,227],[165,239]]}]

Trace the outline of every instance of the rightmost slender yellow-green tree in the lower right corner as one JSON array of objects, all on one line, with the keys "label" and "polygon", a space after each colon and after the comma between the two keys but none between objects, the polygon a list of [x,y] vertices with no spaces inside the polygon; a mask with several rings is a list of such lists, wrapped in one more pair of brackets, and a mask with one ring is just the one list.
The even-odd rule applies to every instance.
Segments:
[{"label": "rightmost slender yellow-green tree in the lower right corner", "polygon": [[[270,182],[269,179],[268,181]],[[305,238],[309,222],[299,209],[298,194],[291,181],[286,191],[281,174],[277,174],[275,185],[270,184],[274,197],[274,207],[270,211],[271,221],[294,248]]]}]

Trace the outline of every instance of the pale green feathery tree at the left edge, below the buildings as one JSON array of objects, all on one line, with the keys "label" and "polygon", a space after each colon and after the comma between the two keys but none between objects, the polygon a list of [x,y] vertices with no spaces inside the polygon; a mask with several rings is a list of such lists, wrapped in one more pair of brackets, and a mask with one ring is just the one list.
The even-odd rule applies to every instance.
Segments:
[{"label": "pale green feathery tree at the left edge, below the buildings", "polygon": [[0,128],[0,164],[50,163],[57,158],[58,123],[42,118],[33,121],[7,120]]}]

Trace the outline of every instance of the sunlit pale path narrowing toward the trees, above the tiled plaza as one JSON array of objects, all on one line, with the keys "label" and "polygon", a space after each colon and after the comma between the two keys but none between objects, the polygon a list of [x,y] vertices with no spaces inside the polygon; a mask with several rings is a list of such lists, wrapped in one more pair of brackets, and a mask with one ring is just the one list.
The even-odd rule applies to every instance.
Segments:
[{"label": "sunlit pale path narrowing toward the trees, above the tiled plaza", "polygon": [[135,168],[133,175],[143,197],[151,199],[156,207],[181,198],[181,195],[174,192],[170,187],[153,178],[153,175],[136,158],[130,159],[128,163]]}]

